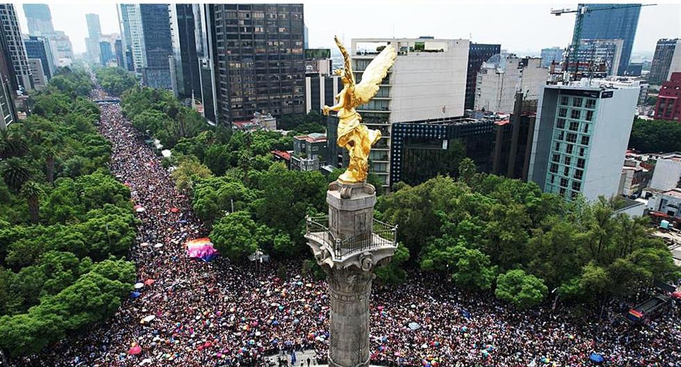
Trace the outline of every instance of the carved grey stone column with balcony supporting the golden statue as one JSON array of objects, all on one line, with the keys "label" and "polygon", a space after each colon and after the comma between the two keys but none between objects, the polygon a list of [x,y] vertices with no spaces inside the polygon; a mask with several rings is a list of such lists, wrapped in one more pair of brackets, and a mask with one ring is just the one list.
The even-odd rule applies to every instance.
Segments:
[{"label": "carved grey stone column with balcony supporting the golden statue", "polygon": [[[396,244],[374,231],[376,194],[366,183],[334,182],[327,191],[328,227],[306,238],[329,284],[329,366],[369,366],[369,298],[373,269],[392,258]],[[315,223],[318,225],[318,223]]]}]

